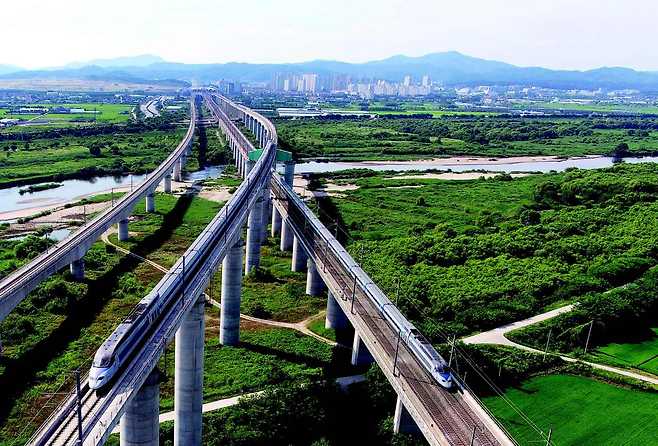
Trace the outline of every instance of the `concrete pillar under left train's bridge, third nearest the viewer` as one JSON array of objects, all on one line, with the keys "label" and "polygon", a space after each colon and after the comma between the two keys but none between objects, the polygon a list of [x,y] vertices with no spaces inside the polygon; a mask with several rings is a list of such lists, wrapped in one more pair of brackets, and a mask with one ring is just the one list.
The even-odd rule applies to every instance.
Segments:
[{"label": "concrete pillar under left train's bridge, third nearest the viewer", "polygon": [[242,294],[242,240],[229,249],[222,262],[222,309],[219,317],[219,343],[238,345],[240,341],[240,298]]}]

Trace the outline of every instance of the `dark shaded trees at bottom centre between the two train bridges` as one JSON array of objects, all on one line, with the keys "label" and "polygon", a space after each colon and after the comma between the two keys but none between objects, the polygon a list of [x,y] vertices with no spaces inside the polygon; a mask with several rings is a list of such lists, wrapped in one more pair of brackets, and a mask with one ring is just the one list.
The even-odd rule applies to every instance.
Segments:
[{"label": "dark shaded trees at bottom centre between the two train bridges", "polygon": [[[421,445],[393,435],[395,393],[376,369],[348,393],[331,384],[281,385],[237,406],[206,414],[205,445]],[[160,444],[173,444],[173,426],[160,430]]]}]

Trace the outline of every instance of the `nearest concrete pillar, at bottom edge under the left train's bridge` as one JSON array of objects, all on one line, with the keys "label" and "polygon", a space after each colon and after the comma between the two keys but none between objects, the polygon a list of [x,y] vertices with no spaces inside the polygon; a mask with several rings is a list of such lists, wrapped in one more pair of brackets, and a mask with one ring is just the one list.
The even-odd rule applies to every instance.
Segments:
[{"label": "nearest concrete pillar, at bottom edge under the left train's bridge", "polygon": [[153,369],[126,405],[120,421],[121,446],[158,446],[160,442],[160,373]]}]

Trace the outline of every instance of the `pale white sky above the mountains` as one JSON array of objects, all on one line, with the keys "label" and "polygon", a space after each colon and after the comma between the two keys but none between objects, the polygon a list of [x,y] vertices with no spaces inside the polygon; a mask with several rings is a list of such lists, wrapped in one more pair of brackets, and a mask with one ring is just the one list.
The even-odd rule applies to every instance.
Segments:
[{"label": "pale white sky above the mountains", "polygon": [[658,71],[655,0],[8,0],[0,64],[155,54],[363,62],[459,51],[520,66]]}]

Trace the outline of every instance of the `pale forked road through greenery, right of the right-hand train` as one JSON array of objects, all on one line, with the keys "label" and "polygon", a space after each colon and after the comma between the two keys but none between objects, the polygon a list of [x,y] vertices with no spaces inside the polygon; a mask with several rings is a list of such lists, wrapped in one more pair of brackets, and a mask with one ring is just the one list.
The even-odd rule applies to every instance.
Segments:
[{"label": "pale forked road through greenery, right of the right-hand train", "polygon": [[[554,318],[560,314],[569,312],[573,309],[573,305],[566,305],[564,307],[557,308],[555,310],[547,311],[546,313],[538,314],[536,316],[524,319],[522,321],[512,322],[511,324],[503,325],[502,327],[494,328],[493,330],[485,331],[478,333],[473,336],[468,336],[463,338],[462,341],[465,344],[495,344],[495,345],[506,345],[509,347],[516,347],[522,350],[526,350],[533,353],[544,354],[543,351],[537,350],[536,348],[528,347],[527,345],[519,344],[505,337],[506,333],[509,333],[512,330],[519,328],[527,327],[528,325],[536,324],[547,319]],[[616,373],[618,375],[623,375],[629,378],[634,378],[639,381],[647,382],[650,384],[658,385],[658,379],[651,376],[642,375],[640,373],[631,372],[630,370],[620,369],[617,367],[611,367],[603,364],[597,364],[595,362],[582,361],[580,359],[575,359],[570,356],[559,355],[562,360],[567,362],[581,362],[587,364],[590,367],[605,370],[606,372]]]}]

